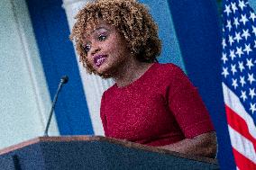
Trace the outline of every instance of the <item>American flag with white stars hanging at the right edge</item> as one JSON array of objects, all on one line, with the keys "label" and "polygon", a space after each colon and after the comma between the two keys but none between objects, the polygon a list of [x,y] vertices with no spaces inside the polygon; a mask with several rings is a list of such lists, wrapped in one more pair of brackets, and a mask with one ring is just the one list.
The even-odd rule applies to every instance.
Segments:
[{"label": "American flag with white stars hanging at the right edge", "polygon": [[237,169],[256,170],[256,14],[248,0],[224,0],[222,79]]}]

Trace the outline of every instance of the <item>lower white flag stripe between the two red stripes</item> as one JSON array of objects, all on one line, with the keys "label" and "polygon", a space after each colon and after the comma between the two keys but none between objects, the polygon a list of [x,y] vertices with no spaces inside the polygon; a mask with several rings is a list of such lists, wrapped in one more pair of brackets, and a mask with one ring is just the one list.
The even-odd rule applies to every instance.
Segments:
[{"label": "lower white flag stripe between the two red stripes", "polygon": [[[252,142],[249,139],[244,138],[239,132],[233,130],[228,125],[229,134],[231,138],[231,145],[234,149],[240,152],[244,157],[248,158],[256,164],[256,154]],[[240,167],[241,168],[241,167]]]}]

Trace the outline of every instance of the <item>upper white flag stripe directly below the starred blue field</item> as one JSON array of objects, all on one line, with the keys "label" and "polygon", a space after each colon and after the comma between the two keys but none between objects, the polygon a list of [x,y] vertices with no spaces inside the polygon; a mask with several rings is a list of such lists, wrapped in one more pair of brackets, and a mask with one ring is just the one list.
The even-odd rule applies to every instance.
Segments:
[{"label": "upper white flag stripe directly below the starred blue field", "polygon": [[223,83],[224,103],[238,114],[247,124],[251,136],[256,139],[256,127],[251,116],[245,111],[239,98]]}]

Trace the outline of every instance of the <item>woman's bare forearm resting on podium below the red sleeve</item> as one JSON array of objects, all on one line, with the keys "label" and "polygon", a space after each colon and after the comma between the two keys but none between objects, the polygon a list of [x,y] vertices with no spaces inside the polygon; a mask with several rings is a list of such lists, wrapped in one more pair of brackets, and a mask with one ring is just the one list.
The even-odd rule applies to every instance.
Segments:
[{"label": "woman's bare forearm resting on podium below the red sleeve", "polygon": [[215,158],[217,149],[216,134],[214,131],[203,133],[193,139],[183,139],[177,143],[160,146],[159,148],[165,148],[183,154]]}]

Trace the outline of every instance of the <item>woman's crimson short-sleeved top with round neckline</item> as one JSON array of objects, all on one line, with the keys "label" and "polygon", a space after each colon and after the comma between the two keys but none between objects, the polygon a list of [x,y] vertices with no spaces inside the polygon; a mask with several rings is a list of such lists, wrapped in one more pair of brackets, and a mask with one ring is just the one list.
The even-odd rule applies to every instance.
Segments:
[{"label": "woman's crimson short-sleeved top with round neckline", "polygon": [[164,146],[214,130],[206,106],[184,72],[154,63],[131,85],[102,96],[105,136]]}]

